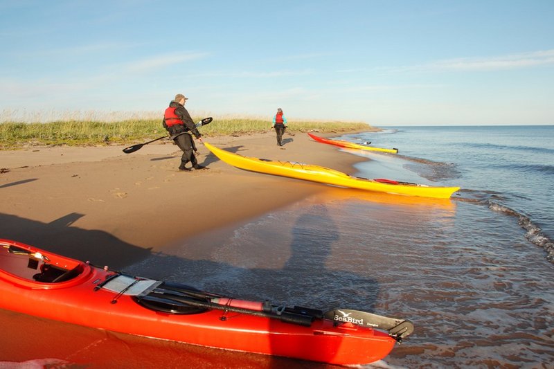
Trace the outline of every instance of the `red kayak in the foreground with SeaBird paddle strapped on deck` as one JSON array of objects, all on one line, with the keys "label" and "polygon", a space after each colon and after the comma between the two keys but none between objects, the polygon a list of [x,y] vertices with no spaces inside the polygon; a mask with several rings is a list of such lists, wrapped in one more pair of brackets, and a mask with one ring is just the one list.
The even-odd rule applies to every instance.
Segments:
[{"label": "red kayak in the foreground with SeaBird paddle strapped on deck", "polygon": [[212,348],[355,365],[386,357],[410,321],[236,300],[0,239],[0,309]]}]

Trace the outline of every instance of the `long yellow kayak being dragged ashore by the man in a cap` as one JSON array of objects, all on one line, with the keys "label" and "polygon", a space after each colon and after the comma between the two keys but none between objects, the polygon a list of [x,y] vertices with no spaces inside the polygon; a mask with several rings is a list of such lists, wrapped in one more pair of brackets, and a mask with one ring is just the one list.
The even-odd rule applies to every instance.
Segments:
[{"label": "long yellow kayak being dragged ashore by the man in a cap", "polygon": [[387,192],[397,195],[433,197],[436,199],[448,199],[459,187],[432,187],[417,183],[393,181],[391,179],[366,179],[352,177],[346,173],[339,172],[319,165],[296,163],[291,161],[270,161],[250,156],[233,154],[204,142],[204,145],[215,156],[234,167],[251,170],[266,174],[274,174],[283,177],[304,179],[326,183],[334,186],[357,188],[376,192]]}]

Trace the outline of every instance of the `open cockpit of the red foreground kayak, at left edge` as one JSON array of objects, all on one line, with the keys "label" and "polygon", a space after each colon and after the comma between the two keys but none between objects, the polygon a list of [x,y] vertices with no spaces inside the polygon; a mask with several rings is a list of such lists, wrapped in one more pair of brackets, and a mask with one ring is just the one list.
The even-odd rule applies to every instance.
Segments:
[{"label": "open cockpit of the red foreground kayak, at left edge", "polygon": [[68,282],[81,276],[87,264],[59,255],[27,249],[15,244],[1,243],[0,273],[15,277],[21,284],[50,284]]}]

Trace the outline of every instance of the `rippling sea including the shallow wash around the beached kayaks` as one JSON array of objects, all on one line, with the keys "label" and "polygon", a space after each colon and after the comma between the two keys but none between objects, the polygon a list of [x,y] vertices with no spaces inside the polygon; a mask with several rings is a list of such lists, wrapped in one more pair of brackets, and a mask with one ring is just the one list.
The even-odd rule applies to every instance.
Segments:
[{"label": "rippling sea including the shallow wash around the beached kayaks", "polygon": [[[552,368],[554,126],[394,127],[341,138],[400,150],[349,151],[368,159],[358,177],[461,190],[431,200],[325,187],[125,271],[413,321],[415,332],[367,368]],[[56,332],[64,329],[98,334],[71,325]],[[128,367],[330,367],[121,334],[102,334],[64,359],[101,368],[114,354]]]}]

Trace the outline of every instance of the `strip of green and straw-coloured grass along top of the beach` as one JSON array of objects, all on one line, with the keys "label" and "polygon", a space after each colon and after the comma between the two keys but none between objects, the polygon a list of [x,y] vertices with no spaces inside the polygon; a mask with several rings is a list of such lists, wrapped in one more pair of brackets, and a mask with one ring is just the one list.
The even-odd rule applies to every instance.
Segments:
[{"label": "strip of green and straw-coloured grass along top of the beach", "polygon": [[[199,121],[201,118],[195,118]],[[256,118],[215,118],[199,130],[206,136],[268,132],[271,122]],[[352,132],[367,130],[366,123],[289,120],[287,132]],[[65,120],[52,123],[0,123],[0,150],[29,145],[127,145],[166,134],[161,120],[136,119],[119,122]]]}]

